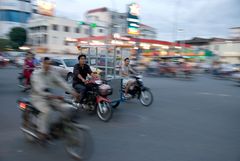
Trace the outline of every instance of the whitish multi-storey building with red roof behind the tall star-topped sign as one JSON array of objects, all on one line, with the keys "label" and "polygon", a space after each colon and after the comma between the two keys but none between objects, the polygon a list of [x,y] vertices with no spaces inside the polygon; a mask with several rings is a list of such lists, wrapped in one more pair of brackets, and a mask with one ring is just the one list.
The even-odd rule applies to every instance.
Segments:
[{"label": "whitish multi-storey building with red roof behind the tall star-topped sign", "polygon": [[[92,36],[104,36],[119,34],[120,36],[132,37],[128,34],[127,12],[120,13],[112,11],[106,7],[89,10],[86,12],[85,21],[95,23],[96,27],[91,29]],[[140,24],[140,35],[134,37],[156,39],[156,29],[144,24]]]}]

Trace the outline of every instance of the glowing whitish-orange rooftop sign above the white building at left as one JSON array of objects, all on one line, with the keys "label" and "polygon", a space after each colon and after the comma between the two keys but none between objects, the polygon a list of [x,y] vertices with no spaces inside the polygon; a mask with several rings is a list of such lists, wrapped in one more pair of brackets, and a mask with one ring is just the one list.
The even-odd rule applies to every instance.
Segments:
[{"label": "glowing whitish-orange rooftop sign above the white building at left", "polygon": [[46,0],[37,0],[38,13],[45,16],[53,16],[55,4]]}]

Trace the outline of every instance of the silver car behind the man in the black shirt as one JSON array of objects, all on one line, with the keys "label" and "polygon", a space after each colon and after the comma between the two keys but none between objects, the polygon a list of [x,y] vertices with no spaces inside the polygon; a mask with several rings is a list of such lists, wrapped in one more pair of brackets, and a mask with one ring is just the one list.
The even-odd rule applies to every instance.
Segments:
[{"label": "silver car behind the man in the black shirt", "polygon": [[[53,70],[60,73],[60,75],[69,83],[73,80],[73,68],[78,63],[76,56],[54,56],[51,57]],[[90,66],[91,70],[100,73],[101,70]]]}]

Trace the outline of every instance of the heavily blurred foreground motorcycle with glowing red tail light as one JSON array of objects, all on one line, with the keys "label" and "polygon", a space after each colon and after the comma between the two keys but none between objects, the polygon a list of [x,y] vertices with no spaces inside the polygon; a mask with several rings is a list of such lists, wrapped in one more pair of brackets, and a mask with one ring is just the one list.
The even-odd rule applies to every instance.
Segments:
[{"label": "heavily blurred foreground motorcycle with glowing red tail light", "polygon": [[[68,100],[63,101],[72,104]],[[38,136],[38,127],[36,124],[40,111],[27,99],[19,99],[17,103],[19,109],[22,111],[23,126],[21,130],[24,136],[30,142],[43,143]],[[74,113],[75,110],[73,111]],[[89,159],[90,153],[92,153],[93,150],[93,141],[89,128],[75,123],[73,117],[74,115],[69,116],[69,118],[60,117],[55,122],[51,123],[49,141],[58,139],[64,140],[65,150],[71,157],[77,160]]]}]

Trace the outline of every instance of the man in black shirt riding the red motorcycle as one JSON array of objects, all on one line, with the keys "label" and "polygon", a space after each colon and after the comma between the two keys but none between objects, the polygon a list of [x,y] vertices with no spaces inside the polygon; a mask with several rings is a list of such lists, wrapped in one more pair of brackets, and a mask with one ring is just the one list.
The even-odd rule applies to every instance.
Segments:
[{"label": "man in black shirt riding the red motorcycle", "polygon": [[97,75],[92,72],[90,66],[86,64],[86,58],[84,54],[79,55],[79,63],[76,64],[73,69],[72,87],[80,94],[80,98],[76,100],[76,102],[81,102],[86,92],[87,75],[89,74],[91,77],[97,78]]}]

